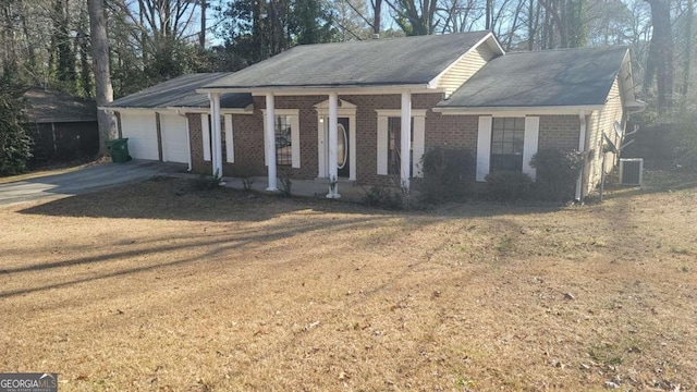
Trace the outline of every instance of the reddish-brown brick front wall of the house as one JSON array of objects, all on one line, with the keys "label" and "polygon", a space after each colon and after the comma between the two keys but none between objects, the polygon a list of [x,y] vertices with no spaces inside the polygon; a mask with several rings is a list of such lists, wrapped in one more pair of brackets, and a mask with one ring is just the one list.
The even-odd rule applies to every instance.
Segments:
[{"label": "reddish-brown brick front wall of the house", "polygon": [[[356,182],[359,185],[391,185],[388,175],[377,175],[376,109],[399,110],[400,95],[340,95],[340,99],[356,106]],[[327,100],[327,96],[276,97],[276,109],[298,109],[301,168],[279,167],[279,176],[290,170],[291,177],[313,180],[318,175],[317,166],[317,112],[314,106]],[[412,96],[413,109],[427,109],[425,149],[444,146],[470,151],[476,157],[478,115],[442,115],[431,110],[442,94],[416,94]],[[264,97],[254,97],[254,114],[233,114],[235,162],[223,163],[227,176],[267,174],[264,163]],[[189,121],[192,168],[198,173],[210,173],[211,162],[203,160],[200,115],[187,114]],[[577,115],[540,115],[539,148],[578,148],[580,122]],[[473,170],[474,172],[474,170]],[[473,179],[474,181],[474,179]]]}]

